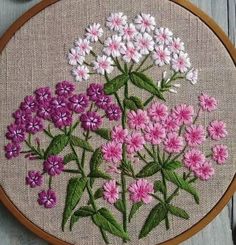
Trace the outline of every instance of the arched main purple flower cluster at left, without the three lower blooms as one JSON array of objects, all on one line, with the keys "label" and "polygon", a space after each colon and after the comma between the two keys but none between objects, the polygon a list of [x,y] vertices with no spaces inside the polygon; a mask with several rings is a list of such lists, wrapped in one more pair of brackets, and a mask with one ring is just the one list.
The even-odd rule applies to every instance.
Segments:
[{"label": "arched main purple flower cluster at left, without the three lower blooms", "polygon": [[73,83],[62,81],[56,85],[55,95],[49,87],[41,87],[34,95],[26,96],[13,113],[14,123],[7,127],[6,138],[11,143],[5,146],[6,157],[17,157],[26,134],[41,132],[45,121],[63,129],[72,125],[73,114],[80,114],[77,120],[81,122],[81,127],[86,131],[95,131],[102,124],[101,111],[110,121],[120,119],[120,107],[112,102],[110,96],[105,95],[102,84],[90,84],[87,93],[75,94],[74,91]]}]

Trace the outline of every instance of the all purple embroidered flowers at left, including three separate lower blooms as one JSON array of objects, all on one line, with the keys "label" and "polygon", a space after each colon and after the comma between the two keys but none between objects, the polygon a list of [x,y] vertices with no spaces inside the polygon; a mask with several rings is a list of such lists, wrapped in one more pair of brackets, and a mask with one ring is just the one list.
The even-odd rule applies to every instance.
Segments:
[{"label": "all purple embroidered flowers at left, including three separate lower blooms", "polygon": [[[64,131],[73,124],[80,124],[84,131],[96,131],[102,125],[103,118],[117,121],[121,117],[120,107],[105,95],[103,85],[92,83],[86,93],[75,93],[75,85],[68,81],[56,85],[55,95],[49,87],[42,87],[34,95],[26,96],[20,107],[13,113],[14,123],[7,127],[6,138],[11,142],[5,146],[8,159],[25,155],[29,160],[43,161],[42,171],[31,170],[26,176],[26,184],[31,188],[43,184],[43,175],[50,177],[60,175],[64,170],[63,158],[57,155],[44,157],[38,137],[32,143],[31,137],[39,132],[47,131],[47,126]],[[50,133],[51,134],[51,133]],[[23,144],[29,148],[24,150]],[[39,193],[38,203],[45,208],[56,204],[56,193],[51,189]]]}]

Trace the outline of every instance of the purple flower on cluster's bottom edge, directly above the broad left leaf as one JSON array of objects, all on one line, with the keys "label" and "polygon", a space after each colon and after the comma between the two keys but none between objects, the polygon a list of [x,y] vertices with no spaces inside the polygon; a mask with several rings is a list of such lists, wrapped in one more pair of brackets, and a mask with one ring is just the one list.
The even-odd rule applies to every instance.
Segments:
[{"label": "purple flower on cluster's bottom edge, directly above the broad left leaf", "polygon": [[55,110],[52,114],[52,121],[57,128],[70,126],[72,124],[72,114],[66,109]]}]

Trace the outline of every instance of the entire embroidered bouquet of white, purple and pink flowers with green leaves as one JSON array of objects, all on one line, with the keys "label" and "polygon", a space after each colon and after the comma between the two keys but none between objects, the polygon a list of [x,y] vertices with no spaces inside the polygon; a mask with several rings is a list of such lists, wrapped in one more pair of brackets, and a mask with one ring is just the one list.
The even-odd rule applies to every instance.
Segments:
[{"label": "entire embroidered bouquet of white, purple and pink flowers with green leaves", "polygon": [[[219,142],[228,135],[226,124],[214,119],[205,126],[199,120],[203,113],[217,109],[215,98],[202,93],[197,105],[173,108],[165,101],[166,93],[177,93],[176,80],[194,85],[198,79],[181,39],[168,28],[157,27],[155,18],[145,13],[132,23],[123,13],[112,13],[106,27],[111,36],[103,37],[106,32],[99,23],[88,26],[85,37],[76,40],[68,54],[75,81],[99,74],[103,82],[91,82],[86,91],[77,93],[76,84],[62,81],[54,94],[41,87],[26,96],[7,127],[10,142],[5,155],[12,159],[23,154],[41,163],[41,170],[30,170],[25,181],[39,189],[38,203],[44,208],[53,208],[60,199],[54,178],[72,175],[62,230],[68,223],[72,229],[81,218],[91,218],[109,243],[108,233],[130,240],[128,222],[146,205],[154,206],[139,239],[162,222],[169,229],[172,215],[189,219],[182,207],[173,204],[175,196],[185,191],[198,204],[194,183],[210,180],[214,162],[225,164],[229,151]],[[162,66],[168,66],[167,71],[157,82],[146,74]],[[147,98],[136,97],[130,86],[145,91]],[[105,122],[115,126],[104,128]],[[48,137],[48,145],[41,142],[42,134]],[[92,144],[93,137],[100,137],[102,143]],[[212,148],[207,148],[206,139]],[[71,163],[76,167],[69,167]],[[169,183],[176,186],[173,192]],[[43,185],[47,188],[41,189]],[[88,199],[82,203],[85,193]],[[104,199],[101,205],[99,198]],[[111,206],[122,215],[122,224]]]}]

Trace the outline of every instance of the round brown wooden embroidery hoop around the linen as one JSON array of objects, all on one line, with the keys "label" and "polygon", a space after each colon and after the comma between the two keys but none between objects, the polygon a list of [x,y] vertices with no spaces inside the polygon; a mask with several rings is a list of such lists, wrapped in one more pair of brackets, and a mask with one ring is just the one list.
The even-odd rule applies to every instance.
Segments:
[{"label": "round brown wooden embroidery hoop around the linen", "polygon": [[[35,16],[37,13],[39,13],[49,5],[56,3],[57,1],[59,0],[43,0],[40,3],[36,4],[34,7],[32,7],[30,10],[28,10],[18,20],[16,20],[1,37],[0,52],[2,52],[2,50],[5,48],[8,41],[13,37],[15,32],[21,26],[23,26],[30,18]],[[234,64],[236,63],[236,49],[234,48],[234,45],[228,39],[224,31],[216,24],[216,22],[212,18],[210,18],[202,10],[200,10],[195,5],[193,5],[192,3],[186,0],[170,0],[170,1],[182,6],[183,8],[190,11],[192,14],[196,15],[199,19],[201,19],[220,39],[220,41],[223,43],[228,53],[230,54]],[[203,229],[221,212],[221,210],[229,202],[230,198],[233,196],[235,191],[236,191],[236,175],[234,175],[232,182],[230,183],[228,189],[226,190],[222,198],[204,218],[202,218],[199,222],[197,222],[195,225],[193,225],[192,227],[190,227],[188,230],[184,231],[180,235],[161,243],[161,245],[179,244],[184,240],[190,238],[194,234],[196,234],[201,229]],[[29,230],[34,232],[37,236],[41,237],[42,239],[48,241],[51,244],[69,245],[69,243],[64,242],[56,238],[55,236],[43,231],[41,228],[39,228],[37,225],[35,225],[29,219],[27,219],[24,216],[24,214],[10,200],[10,198],[7,196],[7,194],[5,193],[5,191],[1,186],[0,186],[0,202],[4,204],[4,206],[16,217],[16,219],[18,219],[24,226],[26,226]]]}]

